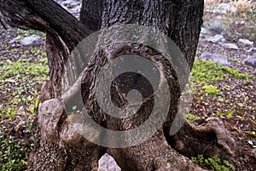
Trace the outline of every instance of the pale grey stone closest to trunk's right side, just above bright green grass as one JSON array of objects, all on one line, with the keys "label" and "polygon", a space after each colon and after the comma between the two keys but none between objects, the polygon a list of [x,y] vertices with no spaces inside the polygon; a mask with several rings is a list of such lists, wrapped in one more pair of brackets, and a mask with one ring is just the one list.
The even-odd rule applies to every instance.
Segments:
[{"label": "pale grey stone closest to trunk's right side, just above bright green grass", "polygon": [[201,60],[210,60],[210,61],[214,62],[215,64],[220,64],[220,65],[231,67],[229,58],[222,54],[212,54],[209,52],[204,52],[201,54],[200,58],[201,58]]}]

